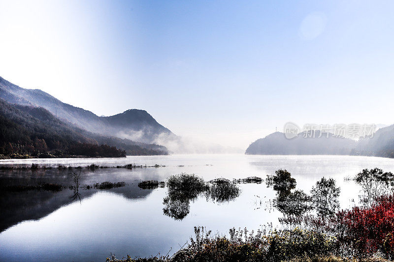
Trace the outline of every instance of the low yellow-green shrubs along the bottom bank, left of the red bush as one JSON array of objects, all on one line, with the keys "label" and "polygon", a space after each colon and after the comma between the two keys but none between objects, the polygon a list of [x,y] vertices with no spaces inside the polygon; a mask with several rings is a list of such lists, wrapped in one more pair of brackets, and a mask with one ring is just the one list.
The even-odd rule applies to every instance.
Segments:
[{"label": "low yellow-green shrubs along the bottom bank, left of the red bush", "polygon": [[229,236],[215,235],[195,227],[195,237],[174,255],[107,262],[388,262],[374,256],[347,256],[338,239],[325,233],[299,228],[272,232],[230,229]]}]

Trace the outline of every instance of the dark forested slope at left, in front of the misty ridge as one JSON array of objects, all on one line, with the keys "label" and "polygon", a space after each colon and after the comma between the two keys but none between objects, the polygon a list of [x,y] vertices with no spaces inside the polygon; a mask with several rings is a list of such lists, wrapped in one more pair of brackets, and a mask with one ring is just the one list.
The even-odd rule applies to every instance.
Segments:
[{"label": "dark forested slope at left, in front of the misty ridge", "polygon": [[[117,148],[116,148],[116,147]],[[0,154],[9,157],[65,157],[167,154],[166,148],[105,137],[60,120],[48,110],[0,99]]]}]

